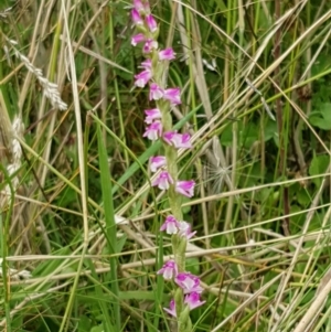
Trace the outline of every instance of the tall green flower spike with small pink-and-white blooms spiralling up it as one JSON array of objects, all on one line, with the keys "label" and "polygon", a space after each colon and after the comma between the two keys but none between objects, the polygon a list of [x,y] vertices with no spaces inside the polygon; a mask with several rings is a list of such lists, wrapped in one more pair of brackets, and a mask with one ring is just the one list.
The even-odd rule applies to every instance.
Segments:
[{"label": "tall green flower spike with small pink-and-white blooms spiralling up it", "polygon": [[131,45],[142,44],[145,61],[141,72],[135,75],[135,87],[149,87],[149,100],[154,108],[145,110],[147,125],[143,137],[151,141],[161,140],[163,154],[150,158],[150,171],[156,173],[151,185],[167,191],[171,215],[168,215],[160,231],[171,235],[173,259],[168,260],[158,271],[164,280],[172,281],[173,299],[169,308],[164,308],[170,315],[177,319],[178,331],[192,331],[190,311],[202,306],[200,300],[202,288],[200,278],[185,271],[185,250],[188,240],[194,236],[191,225],[183,221],[181,196],[194,195],[193,180],[178,179],[178,150],[191,149],[191,136],[180,133],[172,128],[171,109],[181,104],[179,87],[167,87],[162,82],[167,62],[175,58],[173,49],[159,49],[159,25],[151,14],[148,1],[134,0],[131,19],[137,34],[131,38]]}]

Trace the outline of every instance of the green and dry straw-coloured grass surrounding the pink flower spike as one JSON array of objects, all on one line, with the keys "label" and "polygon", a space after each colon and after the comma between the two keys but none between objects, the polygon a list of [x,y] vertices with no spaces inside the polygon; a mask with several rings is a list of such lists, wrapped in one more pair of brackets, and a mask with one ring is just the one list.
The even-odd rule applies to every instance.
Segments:
[{"label": "green and dry straw-coloured grass surrounding the pink flower spike", "polygon": [[[0,3],[1,331],[172,331],[128,4]],[[193,133],[195,331],[331,331],[330,2],[151,4]]]}]

